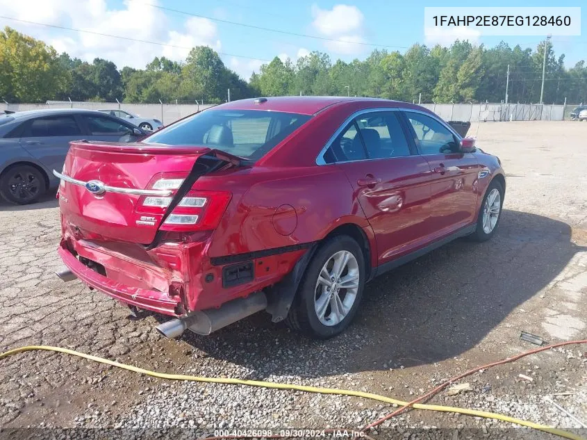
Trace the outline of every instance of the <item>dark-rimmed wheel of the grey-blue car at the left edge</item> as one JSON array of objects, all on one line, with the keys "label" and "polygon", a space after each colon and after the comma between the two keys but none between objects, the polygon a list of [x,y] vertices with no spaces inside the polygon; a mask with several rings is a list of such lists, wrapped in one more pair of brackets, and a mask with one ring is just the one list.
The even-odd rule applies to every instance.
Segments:
[{"label": "dark-rimmed wheel of the grey-blue car at the left edge", "polygon": [[0,176],[0,195],[8,203],[33,203],[46,192],[44,175],[31,165],[16,165]]}]

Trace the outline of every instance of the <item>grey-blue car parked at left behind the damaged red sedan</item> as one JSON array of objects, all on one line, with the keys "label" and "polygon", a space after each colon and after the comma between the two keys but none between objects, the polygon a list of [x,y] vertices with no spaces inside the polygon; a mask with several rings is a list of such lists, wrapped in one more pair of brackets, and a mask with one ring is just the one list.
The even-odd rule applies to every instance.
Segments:
[{"label": "grey-blue car parked at left behind the damaged red sedan", "polygon": [[33,110],[0,115],[0,195],[7,202],[35,202],[59,184],[69,142],[134,142],[147,131],[117,117],[80,109]]}]

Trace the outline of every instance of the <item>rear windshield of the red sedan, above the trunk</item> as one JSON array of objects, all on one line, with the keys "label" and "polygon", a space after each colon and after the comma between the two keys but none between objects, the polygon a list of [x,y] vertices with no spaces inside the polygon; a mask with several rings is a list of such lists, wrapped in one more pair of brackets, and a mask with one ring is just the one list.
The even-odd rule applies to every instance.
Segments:
[{"label": "rear windshield of the red sedan, above the trunk", "polygon": [[310,117],[266,110],[206,110],[157,131],[144,142],[205,145],[235,156],[257,160]]}]

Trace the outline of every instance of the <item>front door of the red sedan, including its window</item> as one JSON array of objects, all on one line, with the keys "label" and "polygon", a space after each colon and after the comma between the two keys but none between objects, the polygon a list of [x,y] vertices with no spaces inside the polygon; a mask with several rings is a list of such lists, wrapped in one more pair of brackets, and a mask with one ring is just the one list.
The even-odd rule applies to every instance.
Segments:
[{"label": "front door of the red sedan, including its window", "polygon": [[403,114],[432,171],[429,227],[440,238],[474,220],[479,161],[472,153],[458,152],[459,139],[436,117],[407,110]]}]

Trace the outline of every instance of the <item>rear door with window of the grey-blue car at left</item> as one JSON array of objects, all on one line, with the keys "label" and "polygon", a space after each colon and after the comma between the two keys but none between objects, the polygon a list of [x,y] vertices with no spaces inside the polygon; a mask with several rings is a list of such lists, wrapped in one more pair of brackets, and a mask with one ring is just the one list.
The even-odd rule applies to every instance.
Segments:
[{"label": "rear door with window of the grey-blue car at left", "polygon": [[74,115],[37,117],[26,122],[20,144],[48,170],[61,170],[69,142],[83,138]]}]

